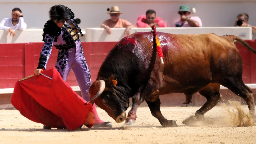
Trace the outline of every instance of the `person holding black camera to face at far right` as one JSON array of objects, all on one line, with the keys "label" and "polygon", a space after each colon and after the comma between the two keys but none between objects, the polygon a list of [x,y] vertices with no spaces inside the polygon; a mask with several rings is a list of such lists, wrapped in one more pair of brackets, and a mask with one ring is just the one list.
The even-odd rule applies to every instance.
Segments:
[{"label": "person holding black camera to face at far right", "polygon": [[252,33],[256,33],[256,27],[248,24],[249,15],[247,13],[240,13],[237,15],[237,19],[235,21],[234,26],[241,27],[252,27]]}]

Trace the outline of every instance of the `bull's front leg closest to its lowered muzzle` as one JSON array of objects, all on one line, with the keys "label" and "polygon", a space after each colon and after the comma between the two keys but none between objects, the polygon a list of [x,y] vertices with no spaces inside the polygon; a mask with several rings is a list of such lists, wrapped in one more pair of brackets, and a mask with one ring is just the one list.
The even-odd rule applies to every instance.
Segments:
[{"label": "bull's front leg closest to its lowered muzzle", "polygon": [[131,125],[136,121],[136,112],[141,102],[145,100],[145,98],[141,95],[141,89],[144,87],[140,87],[137,93],[132,97],[132,108],[128,112],[128,116],[125,119],[125,125]]}]

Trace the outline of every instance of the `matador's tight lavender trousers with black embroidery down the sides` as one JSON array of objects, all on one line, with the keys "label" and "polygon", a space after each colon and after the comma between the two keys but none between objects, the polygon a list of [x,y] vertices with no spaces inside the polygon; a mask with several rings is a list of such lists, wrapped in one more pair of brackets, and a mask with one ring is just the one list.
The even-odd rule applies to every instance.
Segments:
[{"label": "matador's tight lavender trousers with black embroidery down the sides", "polygon": [[72,69],[80,87],[82,98],[89,101],[91,74],[84,57],[83,47],[80,40],[76,40],[75,43],[76,47],[74,48],[59,50],[55,67],[60,72],[64,81],[67,80],[68,74]]}]

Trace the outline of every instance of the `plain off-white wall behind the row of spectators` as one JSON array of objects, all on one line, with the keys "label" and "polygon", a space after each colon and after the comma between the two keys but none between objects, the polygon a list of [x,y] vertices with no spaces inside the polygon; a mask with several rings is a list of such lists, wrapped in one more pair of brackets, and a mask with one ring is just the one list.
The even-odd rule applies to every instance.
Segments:
[{"label": "plain off-white wall behind the row of spectators", "polygon": [[24,14],[28,28],[43,28],[49,19],[48,11],[51,6],[63,4],[72,9],[76,18],[81,19],[82,29],[100,27],[109,19],[107,8],[118,5],[124,12],[120,18],[127,19],[136,25],[136,20],[147,9],[154,9],[156,15],[162,17],[171,27],[180,18],[177,14],[179,6],[188,4],[196,8],[195,16],[199,16],[204,27],[233,26],[237,14],[247,12],[249,24],[256,25],[256,0],[1,0],[0,19],[11,16],[14,7],[19,7]]}]

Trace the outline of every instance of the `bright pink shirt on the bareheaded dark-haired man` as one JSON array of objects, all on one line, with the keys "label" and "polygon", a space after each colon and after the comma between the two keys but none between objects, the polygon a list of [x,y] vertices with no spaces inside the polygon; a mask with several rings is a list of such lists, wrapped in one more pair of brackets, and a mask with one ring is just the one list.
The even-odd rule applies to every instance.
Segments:
[{"label": "bright pink shirt on the bareheaded dark-haired man", "polygon": [[[157,23],[159,27],[166,27],[166,22],[164,22],[163,19],[161,19],[160,17],[156,17],[154,23]],[[147,27],[148,23],[147,23],[146,15],[140,15],[136,25],[137,27]]]}]

